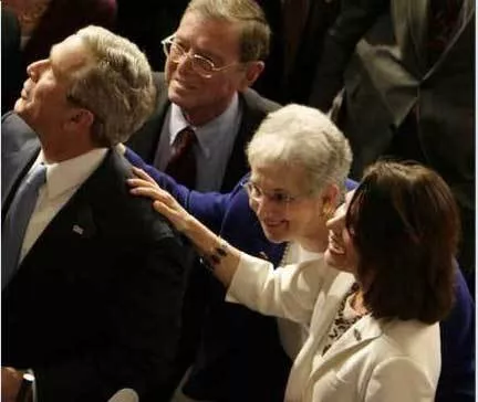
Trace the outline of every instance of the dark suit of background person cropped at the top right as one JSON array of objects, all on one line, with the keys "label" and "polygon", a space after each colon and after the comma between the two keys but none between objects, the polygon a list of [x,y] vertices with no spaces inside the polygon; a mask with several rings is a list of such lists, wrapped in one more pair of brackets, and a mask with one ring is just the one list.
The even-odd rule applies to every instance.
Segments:
[{"label": "dark suit of background person cropped at the top right", "polygon": [[329,109],[344,83],[337,124],[351,141],[355,179],[388,155],[423,162],[446,180],[461,212],[458,260],[474,295],[475,2],[363,0],[342,7],[311,104]]}]

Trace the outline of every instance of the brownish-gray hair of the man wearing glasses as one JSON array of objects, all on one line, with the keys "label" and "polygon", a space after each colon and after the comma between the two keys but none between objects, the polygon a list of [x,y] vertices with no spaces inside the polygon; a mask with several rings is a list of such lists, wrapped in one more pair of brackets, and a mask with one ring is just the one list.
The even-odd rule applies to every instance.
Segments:
[{"label": "brownish-gray hair of the man wearing glasses", "polygon": [[224,20],[240,28],[240,61],[266,60],[271,30],[262,9],[252,0],[191,0],[185,11]]}]

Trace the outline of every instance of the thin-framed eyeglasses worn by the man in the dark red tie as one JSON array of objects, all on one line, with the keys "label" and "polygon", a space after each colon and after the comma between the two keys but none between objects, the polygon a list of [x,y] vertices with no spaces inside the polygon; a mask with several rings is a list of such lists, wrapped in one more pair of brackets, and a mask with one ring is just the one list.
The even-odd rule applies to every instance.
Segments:
[{"label": "thin-framed eyeglasses worn by the man in the dark red tie", "polygon": [[179,43],[175,41],[175,35],[170,35],[162,41],[163,51],[166,57],[168,57],[173,63],[179,63],[184,56],[188,57],[191,63],[193,70],[204,78],[210,78],[214,74],[230,68],[240,63],[231,63],[222,67],[217,67],[209,59],[197,54],[187,52]]}]

